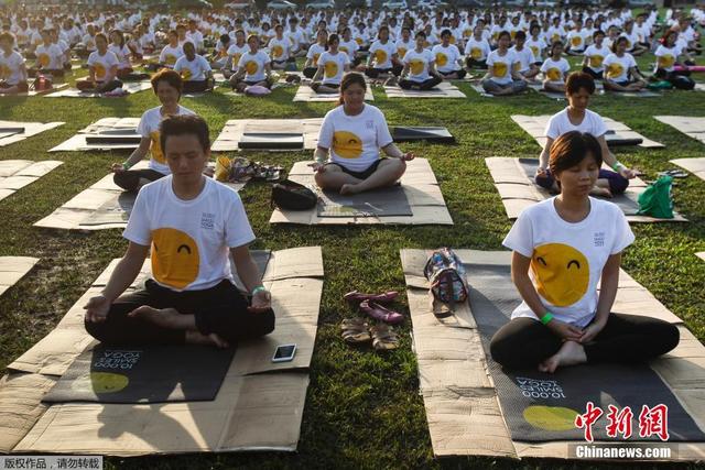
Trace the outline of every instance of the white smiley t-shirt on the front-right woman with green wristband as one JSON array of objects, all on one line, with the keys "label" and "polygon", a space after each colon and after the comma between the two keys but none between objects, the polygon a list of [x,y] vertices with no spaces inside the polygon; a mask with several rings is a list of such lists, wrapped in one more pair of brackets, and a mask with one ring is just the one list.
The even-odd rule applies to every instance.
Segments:
[{"label": "white smiley t-shirt on the front-right woman with green wristband", "polygon": [[[590,200],[590,212],[576,223],[561,218],[550,198],[525,208],[502,244],[531,258],[530,277],[541,303],[555,319],[579,328],[595,317],[597,283],[610,255],[634,241],[619,206]],[[522,302],[512,318],[536,315]]]}]

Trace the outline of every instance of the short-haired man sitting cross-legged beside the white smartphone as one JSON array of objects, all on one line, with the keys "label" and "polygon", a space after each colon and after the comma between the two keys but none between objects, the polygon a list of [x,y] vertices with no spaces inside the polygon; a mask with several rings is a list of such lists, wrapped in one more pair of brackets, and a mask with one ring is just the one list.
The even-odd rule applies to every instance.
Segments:
[{"label": "short-haired man sitting cross-legged beside the white smartphone", "polygon": [[[110,345],[219,348],[270,334],[271,294],[248,249],[254,234],[242,201],[203,175],[210,157],[208,125],[196,116],[174,116],[161,132],[173,173],[140,190],[122,233],[127,252],[84,307],[86,330]],[[123,295],[150,253],[144,288]],[[230,258],[246,293],[235,285]]]}]

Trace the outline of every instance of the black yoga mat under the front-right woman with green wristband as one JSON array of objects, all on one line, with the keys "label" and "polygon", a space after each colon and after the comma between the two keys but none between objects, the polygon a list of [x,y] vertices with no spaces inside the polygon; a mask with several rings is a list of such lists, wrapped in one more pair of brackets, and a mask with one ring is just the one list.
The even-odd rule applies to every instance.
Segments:
[{"label": "black yoga mat under the front-right woman with green wristband", "polygon": [[586,413],[587,402],[604,411],[593,426],[595,440],[607,436],[608,405],[633,413],[629,440],[659,440],[639,437],[642,406],[668,405],[670,440],[703,441],[705,435],[683,409],[661,378],[647,364],[582,364],[561,368],[554,374],[536,368],[508,371],[491,360],[489,341],[521,303],[511,278],[510,265],[496,255],[478,254],[463,260],[470,285],[470,308],[477,321],[489,370],[497,387],[505,422],[513,440],[584,440],[584,430],[575,427],[575,416]]}]

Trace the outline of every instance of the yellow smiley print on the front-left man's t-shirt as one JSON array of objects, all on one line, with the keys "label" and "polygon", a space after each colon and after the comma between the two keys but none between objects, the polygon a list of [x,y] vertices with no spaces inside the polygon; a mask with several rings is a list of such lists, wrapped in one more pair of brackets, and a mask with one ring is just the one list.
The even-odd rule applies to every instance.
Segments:
[{"label": "yellow smiley print on the front-left man's t-shirt", "polygon": [[152,231],[152,275],[160,284],[185,288],[199,266],[198,245],[187,233],[167,227]]}]

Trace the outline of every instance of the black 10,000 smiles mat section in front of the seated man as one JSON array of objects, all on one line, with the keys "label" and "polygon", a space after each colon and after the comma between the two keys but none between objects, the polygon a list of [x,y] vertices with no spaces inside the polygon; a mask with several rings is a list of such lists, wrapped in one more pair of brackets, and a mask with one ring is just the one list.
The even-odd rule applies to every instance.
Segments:
[{"label": "black 10,000 smiles mat section in front of the seated man", "polygon": [[[44,402],[163,403],[212,401],[235,349],[207,346],[97,346],[82,353]],[[70,431],[70,430],[68,430]]]}]

